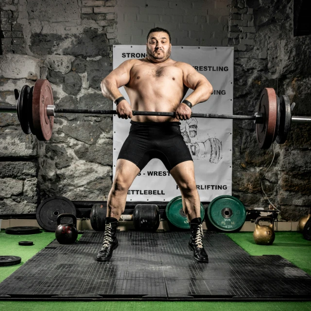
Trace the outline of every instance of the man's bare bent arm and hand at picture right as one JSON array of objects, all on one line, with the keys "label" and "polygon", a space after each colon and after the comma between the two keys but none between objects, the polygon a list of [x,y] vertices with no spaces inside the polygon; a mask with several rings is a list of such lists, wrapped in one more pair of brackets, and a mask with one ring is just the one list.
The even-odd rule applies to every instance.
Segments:
[{"label": "man's bare bent arm and hand at picture right", "polygon": [[176,118],[186,120],[190,119],[191,116],[190,106],[207,101],[213,93],[213,87],[208,82],[207,78],[203,74],[197,72],[191,65],[181,63],[180,68],[183,70],[184,85],[193,89],[193,92],[185,98],[190,104],[188,103],[187,106],[187,104],[181,103],[176,109]]}]

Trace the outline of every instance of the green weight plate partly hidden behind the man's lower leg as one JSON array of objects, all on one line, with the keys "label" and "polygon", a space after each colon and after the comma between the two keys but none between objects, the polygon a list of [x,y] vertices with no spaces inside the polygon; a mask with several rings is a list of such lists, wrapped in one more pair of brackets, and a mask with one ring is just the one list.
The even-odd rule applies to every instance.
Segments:
[{"label": "green weight plate partly hidden behind the man's lower leg", "polygon": [[[204,207],[201,203],[201,219],[204,219]],[[176,196],[173,198],[168,205],[166,206],[166,217],[170,221],[171,224],[178,228],[189,229],[189,221],[183,211],[183,203],[180,196]]]}]

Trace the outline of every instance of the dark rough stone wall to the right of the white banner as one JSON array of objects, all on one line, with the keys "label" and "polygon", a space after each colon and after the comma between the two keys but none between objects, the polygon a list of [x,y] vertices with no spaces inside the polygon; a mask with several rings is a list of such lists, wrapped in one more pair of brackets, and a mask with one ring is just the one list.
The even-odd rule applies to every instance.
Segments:
[{"label": "dark rough stone wall to the right of the white banner", "polygon": [[[311,36],[293,36],[294,1],[287,2],[232,1],[228,37],[236,51],[235,114],[254,111],[262,88],[274,87],[296,103],[295,115],[310,115]],[[267,208],[260,179],[274,152],[258,149],[254,130],[250,122],[234,122],[232,194],[246,206]],[[262,185],[285,220],[298,220],[311,206],[310,150],[308,124],[292,124],[287,142],[275,143]]]}]

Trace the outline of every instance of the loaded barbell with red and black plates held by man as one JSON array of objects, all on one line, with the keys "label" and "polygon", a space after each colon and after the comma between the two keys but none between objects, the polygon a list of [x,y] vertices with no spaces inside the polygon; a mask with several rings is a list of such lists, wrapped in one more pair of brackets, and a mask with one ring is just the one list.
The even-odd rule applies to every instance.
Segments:
[{"label": "loaded barbell with red and black plates held by man", "polygon": [[[117,114],[116,110],[57,109],[54,105],[52,86],[46,79],[39,79],[35,86],[25,85],[21,91],[14,90],[17,105],[0,106],[0,113],[17,112],[22,131],[34,134],[38,140],[47,141],[52,136],[56,113]],[[311,122],[311,117],[292,116],[295,103],[290,104],[287,95],[278,97],[273,88],[264,88],[260,94],[259,108],[253,116],[192,113],[192,118],[249,120],[256,124],[259,148],[268,149],[276,141],[283,144],[292,122]],[[133,111],[133,116],[175,117],[175,112]]]}]

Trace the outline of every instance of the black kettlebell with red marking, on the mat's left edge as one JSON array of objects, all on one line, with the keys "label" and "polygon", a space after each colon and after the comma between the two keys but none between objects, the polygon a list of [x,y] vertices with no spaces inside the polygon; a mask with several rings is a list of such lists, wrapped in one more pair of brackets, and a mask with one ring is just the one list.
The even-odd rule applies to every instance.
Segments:
[{"label": "black kettlebell with red marking, on the mat's left edge", "polygon": [[[60,221],[65,218],[72,218],[72,224],[61,224]],[[56,240],[60,244],[72,244],[77,240],[78,230],[77,230],[77,218],[73,214],[59,214],[56,220]]]}]

